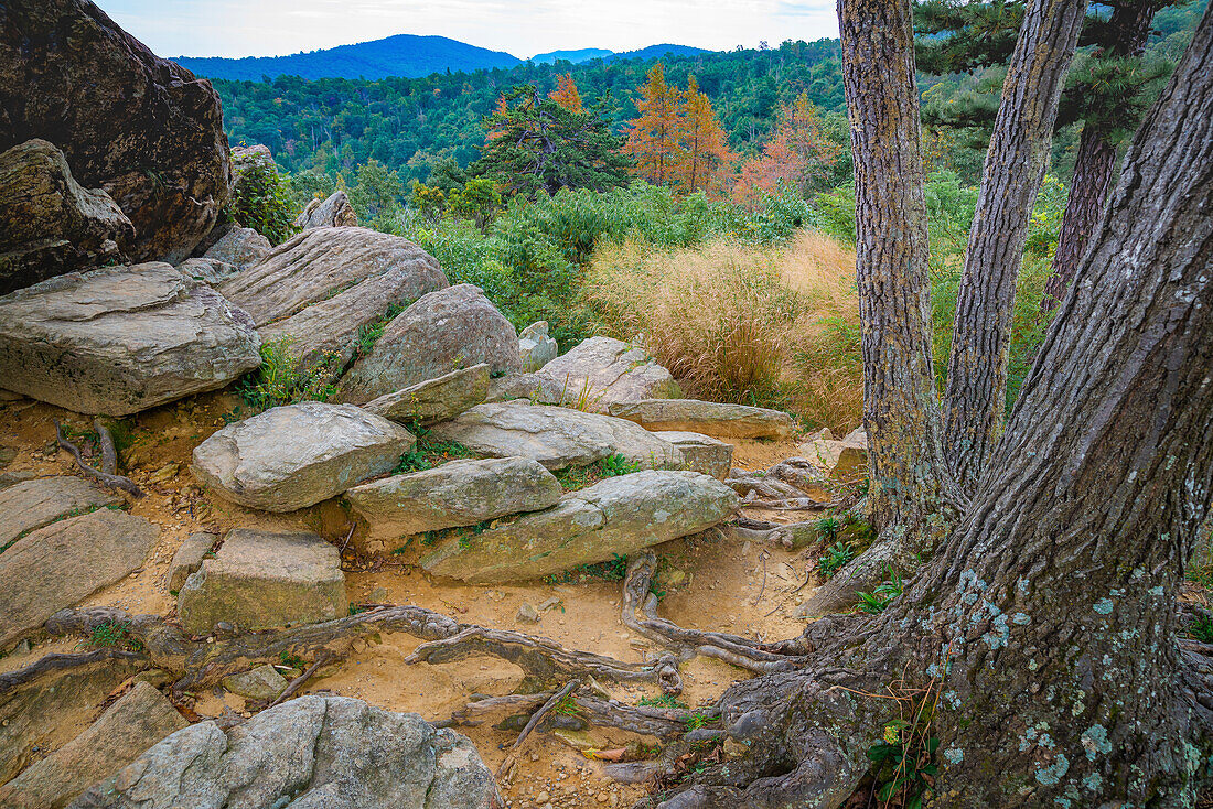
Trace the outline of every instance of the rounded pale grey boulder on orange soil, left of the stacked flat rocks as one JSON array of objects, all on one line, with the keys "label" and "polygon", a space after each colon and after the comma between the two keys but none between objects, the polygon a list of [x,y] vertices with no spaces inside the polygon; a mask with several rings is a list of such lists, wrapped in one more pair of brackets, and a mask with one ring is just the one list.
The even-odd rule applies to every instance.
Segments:
[{"label": "rounded pale grey boulder on orange soil, left of the stacked flat rocks", "polygon": [[226,500],[289,512],[389,472],[414,443],[353,405],[301,401],[223,427],[194,448],[189,468]]}]

